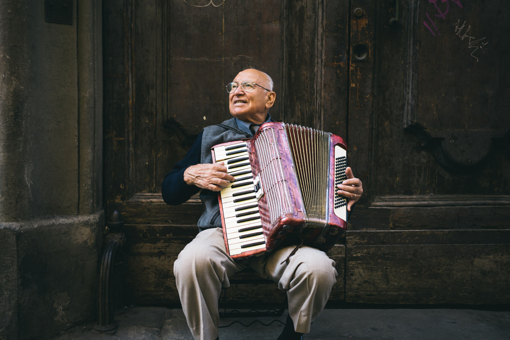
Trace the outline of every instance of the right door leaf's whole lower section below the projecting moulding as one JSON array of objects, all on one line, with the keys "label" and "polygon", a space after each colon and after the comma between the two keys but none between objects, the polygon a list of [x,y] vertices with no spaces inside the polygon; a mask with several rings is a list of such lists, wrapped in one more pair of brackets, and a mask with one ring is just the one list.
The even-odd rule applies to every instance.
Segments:
[{"label": "right door leaf's whole lower section below the projecting moulding", "polygon": [[[443,199],[442,207],[402,197],[392,207],[356,207],[346,233],[347,302],[510,302],[510,273],[502,270],[510,266],[507,200]],[[413,203],[422,206],[405,206]]]}]

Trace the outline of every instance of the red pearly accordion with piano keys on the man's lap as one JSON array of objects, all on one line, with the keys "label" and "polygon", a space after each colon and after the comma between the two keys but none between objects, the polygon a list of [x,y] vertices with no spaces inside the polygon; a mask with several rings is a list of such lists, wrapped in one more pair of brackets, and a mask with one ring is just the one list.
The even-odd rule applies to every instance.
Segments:
[{"label": "red pearly accordion with piano keys on the man's lap", "polygon": [[218,193],[228,254],[246,257],[284,244],[327,251],[347,228],[346,145],[316,129],[268,122],[247,140],[212,147],[236,180]]}]

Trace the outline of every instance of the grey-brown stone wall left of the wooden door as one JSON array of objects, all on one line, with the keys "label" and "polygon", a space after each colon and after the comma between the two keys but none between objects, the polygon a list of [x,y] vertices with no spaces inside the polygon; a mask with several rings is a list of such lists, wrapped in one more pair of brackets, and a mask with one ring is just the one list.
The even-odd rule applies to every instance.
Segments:
[{"label": "grey-brown stone wall left of the wooden door", "polygon": [[0,1],[0,339],[94,318],[102,110],[101,1]]}]

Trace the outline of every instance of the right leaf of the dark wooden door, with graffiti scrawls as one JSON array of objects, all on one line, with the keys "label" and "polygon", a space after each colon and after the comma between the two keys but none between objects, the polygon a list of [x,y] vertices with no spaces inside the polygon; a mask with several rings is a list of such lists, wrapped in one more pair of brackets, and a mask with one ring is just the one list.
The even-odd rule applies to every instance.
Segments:
[{"label": "right leaf of the dark wooden door, with graffiti scrawls", "polygon": [[508,303],[508,2],[351,4],[346,301]]}]

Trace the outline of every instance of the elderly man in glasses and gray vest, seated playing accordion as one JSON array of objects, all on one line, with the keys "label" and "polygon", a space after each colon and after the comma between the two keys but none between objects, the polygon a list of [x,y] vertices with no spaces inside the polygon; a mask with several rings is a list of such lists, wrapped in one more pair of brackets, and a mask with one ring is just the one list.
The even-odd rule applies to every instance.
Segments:
[{"label": "elderly man in glasses and gray vest, seated playing accordion", "polygon": [[[212,164],[211,147],[251,137],[264,122],[276,94],[271,77],[255,69],[239,72],[227,85],[230,113],[222,124],[206,127],[185,158],[170,171],[162,185],[168,204],[181,204],[200,189],[205,212],[198,221],[199,233],[179,254],[173,272],[188,326],[195,339],[218,338],[218,299],[222,287],[236,272],[252,268],[270,278],[287,293],[289,316],[278,339],[301,339],[324,308],[336,282],[335,263],[323,251],[294,246],[257,257],[232,259],[225,249],[217,192],[235,178],[223,164]],[[363,193],[362,182],[350,168],[338,193],[348,199],[347,210]]]}]

